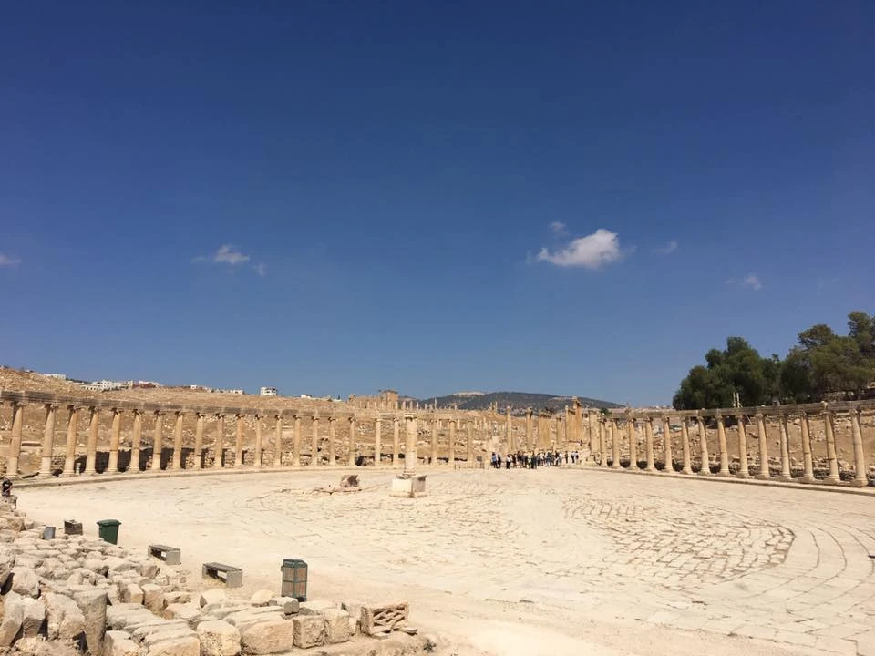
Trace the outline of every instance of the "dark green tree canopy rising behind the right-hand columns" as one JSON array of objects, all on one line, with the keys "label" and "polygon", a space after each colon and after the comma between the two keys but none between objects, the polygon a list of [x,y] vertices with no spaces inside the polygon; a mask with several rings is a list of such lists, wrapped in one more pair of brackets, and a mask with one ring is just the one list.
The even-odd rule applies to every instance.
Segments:
[{"label": "dark green tree canopy rising behind the right-hand columns", "polygon": [[729,337],[726,349],[711,349],[674,395],[678,410],[818,401],[828,396],[860,398],[875,381],[875,320],[865,312],[848,315],[848,335],[825,323],[798,333],[798,343],[781,360],[762,357],[741,337]]}]

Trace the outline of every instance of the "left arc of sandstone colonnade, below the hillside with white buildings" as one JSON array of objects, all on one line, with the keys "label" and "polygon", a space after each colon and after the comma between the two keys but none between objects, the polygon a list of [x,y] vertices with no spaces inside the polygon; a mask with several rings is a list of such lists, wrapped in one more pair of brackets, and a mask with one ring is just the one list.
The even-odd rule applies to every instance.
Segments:
[{"label": "left arc of sandstone colonnade, below the hillside with white buildings", "polygon": [[[119,458],[119,455],[124,453],[124,449],[121,447],[122,427],[128,423],[130,426],[129,465],[124,467],[124,471],[128,472],[173,471],[187,468],[183,462],[184,451],[192,452],[191,468],[193,469],[208,467],[222,469],[229,466],[240,468],[244,466],[243,455],[244,451],[247,451],[244,448],[247,423],[254,424],[252,462],[246,465],[253,469],[269,466],[302,466],[302,456],[307,455],[302,450],[305,430],[309,433],[309,464],[311,466],[338,466],[340,464],[355,466],[360,462],[359,456],[364,456],[367,459],[367,454],[362,452],[370,451],[370,448],[367,447],[360,448],[362,445],[359,444],[358,440],[358,425],[364,422],[373,422],[374,425],[373,457],[374,464],[377,466],[383,462],[383,425],[386,422],[391,422],[391,464],[398,466],[402,457],[401,422],[407,421],[407,417],[410,417],[410,420],[414,422],[415,435],[418,433],[418,418],[416,414],[412,413],[375,414],[371,411],[357,415],[348,412],[324,415],[315,411],[298,412],[285,409],[192,409],[136,405],[129,402],[107,403],[98,400],[91,402],[87,399],[65,400],[39,393],[18,393],[5,390],[0,390],[0,405],[8,405],[12,408],[10,440],[6,457],[6,475],[10,477],[19,474],[24,415],[26,412],[28,414],[39,412],[39,409],[45,413],[43,416],[45,428],[38,472],[40,476],[46,477],[52,476],[59,469],[59,467],[53,467],[53,455],[56,446],[56,425],[58,421],[63,420],[67,421],[67,435],[64,465],[59,471],[62,477],[98,473],[98,432],[101,419],[107,415],[110,417],[108,460],[106,460],[106,466],[101,467],[101,473],[107,474],[118,474],[122,471],[119,464],[120,460],[123,460],[123,458]],[[59,414],[60,419],[58,418]],[[143,426],[146,416],[150,416],[152,419],[150,461],[147,453],[149,447],[143,445]],[[88,426],[85,431],[85,452],[81,453],[78,442],[80,438],[79,426],[83,417],[87,418]],[[190,417],[193,417],[195,421],[193,449],[183,448],[184,422]],[[211,417],[213,423],[214,435],[211,447],[204,445],[207,417]],[[452,463],[456,459],[457,429],[464,431],[463,435],[466,438],[464,456],[468,462],[473,462],[475,459],[474,418],[438,414],[429,414],[429,417],[431,422],[429,448],[431,462],[438,462],[438,430],[441,422],[448,422],[449,425],[449,462]],[[264,420],[273,423],[273,432],[267,434],[263,432]],[[293,438],[291,444],[288,444],[288,440],[283,443],[283,430],[287,420],[292,423]],[[232,443],[226,437],[225,428],[228,421],[234,423]],[[324,449],[321,448],[324,442],[323,422],[327,423],[327,445]],[[349,444],[345,463],[340,462],[342,454],[338,450],[337,422],[346,423]],[[405,430],[410,430],[409,423]],[[225,452],[230,448],[233,448],[233,461],[226,462]],[[264,454],[271,449],[273,450],[273,460],[265,462]],[[207,462],[207,454],[210,450],[213,456],[211,465]],[[285,459],[283,459],[283,454],[287,456]],[[407,454],[407,448],[405,448],[405,454]],[[168,455],[169,457],[167,457]],[[81,460],[82,456],[84,456],[84,467],[81,468],[81,471],[77,471],[77,459]],[[411,456],[415,456],[415,451]]]}]

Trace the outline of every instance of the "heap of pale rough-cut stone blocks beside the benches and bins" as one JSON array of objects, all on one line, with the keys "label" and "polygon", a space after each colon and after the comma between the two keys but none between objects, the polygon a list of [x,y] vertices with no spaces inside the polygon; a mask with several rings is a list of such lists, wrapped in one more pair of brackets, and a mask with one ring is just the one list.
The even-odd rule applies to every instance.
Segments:
[{"label": "heap of pale rough-cut stone blocks beside the benches and bins", "polygon": [[[363,653],[421,653],[407,604],[299,603],[259,590],[187,588],[178,569],[81,535],[44,539],[0,500],[0,653],[28,656],[237,656],[274,654],[364,636],[403,639]],[[374,618],[392,618],[374,621]],[[405,642],[406,641],[406,642]],[[370,641],[369,641],[370,642]],[[400,651],[397,651],[400,650]],[[411,651],[412,650],[412,651]],[[350,651],[353,653],[353,651]]]}]

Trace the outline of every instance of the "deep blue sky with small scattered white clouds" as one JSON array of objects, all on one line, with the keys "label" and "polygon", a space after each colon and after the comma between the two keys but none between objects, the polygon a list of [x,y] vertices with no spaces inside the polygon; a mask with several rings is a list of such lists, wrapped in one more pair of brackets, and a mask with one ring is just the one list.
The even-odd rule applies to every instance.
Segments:
[{"label": "deep blue sky with small scattered white clouds", "polygon": [[25,3],[0,364],[668,403],[875,311],[875,5]]}]

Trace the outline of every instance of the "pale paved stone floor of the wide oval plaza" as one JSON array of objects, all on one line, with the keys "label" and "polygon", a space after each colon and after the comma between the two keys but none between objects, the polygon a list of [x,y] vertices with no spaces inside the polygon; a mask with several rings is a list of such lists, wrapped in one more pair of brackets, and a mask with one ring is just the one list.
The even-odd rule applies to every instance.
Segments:
[{"label": "pale paved stone floor of the wide oval plaza", "polygon": [[875,653],[870,497],[551,468],[434,473],[416,500],[374,470],[362,492],[312,492],[340,476],[32,488],[19,506],[118,518],[122,544],[242,566],[247,589],[304,558],[311,598],[406,598],[484,653]]}]

